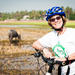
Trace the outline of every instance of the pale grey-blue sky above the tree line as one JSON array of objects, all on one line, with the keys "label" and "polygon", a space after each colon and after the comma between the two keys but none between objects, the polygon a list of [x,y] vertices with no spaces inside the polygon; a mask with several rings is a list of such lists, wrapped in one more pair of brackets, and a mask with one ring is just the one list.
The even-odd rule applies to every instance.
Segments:
[{"label": "pale grey-blue sky above the tree line", "polygon": [[75,0],[0,0],[0,12],[48,10],[53,6],[69,6],[75,10]]}]

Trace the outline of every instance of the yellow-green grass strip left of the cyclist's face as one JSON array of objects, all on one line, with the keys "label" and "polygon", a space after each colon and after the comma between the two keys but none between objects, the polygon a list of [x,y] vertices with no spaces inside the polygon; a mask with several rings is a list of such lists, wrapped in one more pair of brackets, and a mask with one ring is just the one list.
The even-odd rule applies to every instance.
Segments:
[{"label": "yellow-green grass strip left of the cyclist's face", "polygon": [[0,21],[0,25],[47,25],[46,21]]}]

